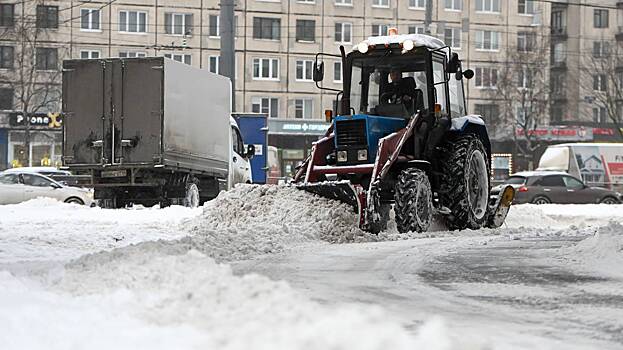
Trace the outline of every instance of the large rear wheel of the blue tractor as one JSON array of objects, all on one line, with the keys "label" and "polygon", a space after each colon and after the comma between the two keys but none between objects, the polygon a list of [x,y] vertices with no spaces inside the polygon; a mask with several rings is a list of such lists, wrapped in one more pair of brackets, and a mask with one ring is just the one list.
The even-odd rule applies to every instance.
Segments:
[{"label": "large rear wheel of the blue tractor", "polygon": [[479,229],[489,203],[487,151],[474,135],[463,135],[443,149],[439,201],[451,211],[446,224],[451,230]]}]

